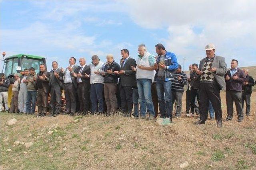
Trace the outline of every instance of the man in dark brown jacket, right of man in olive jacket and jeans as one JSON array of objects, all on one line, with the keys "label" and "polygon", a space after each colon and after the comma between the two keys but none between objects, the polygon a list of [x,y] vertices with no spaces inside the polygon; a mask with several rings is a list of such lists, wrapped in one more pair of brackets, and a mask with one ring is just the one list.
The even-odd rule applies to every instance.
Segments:
[{"label": "man in dark brown jacket, right of man in olive jacket and jeans", "polygon": [[38,105],[38,116],[46,116],[47,104],[48,104],[48,93],[49,93],[49,77],[50,74],[47,72],[45,65],[40,64],[40,72],[36,75],[36,90],[37,90],[37,105]]}]

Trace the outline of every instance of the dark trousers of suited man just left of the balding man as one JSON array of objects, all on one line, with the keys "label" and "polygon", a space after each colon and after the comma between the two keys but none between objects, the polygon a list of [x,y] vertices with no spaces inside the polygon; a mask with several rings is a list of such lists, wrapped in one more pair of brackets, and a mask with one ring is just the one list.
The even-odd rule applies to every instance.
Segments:
[{"label": "dark trousers of suited man just left of the balding man", "polygon": [[73,83],[64,84],[66,113],[76,113],[76,88]]}]

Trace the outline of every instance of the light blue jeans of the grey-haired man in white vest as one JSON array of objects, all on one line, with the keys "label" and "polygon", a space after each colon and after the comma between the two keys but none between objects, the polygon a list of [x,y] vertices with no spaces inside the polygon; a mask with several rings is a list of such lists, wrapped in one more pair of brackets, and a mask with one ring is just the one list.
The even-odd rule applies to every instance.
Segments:
[{"label": "light blue jeans of the grey-haired man in white vest", "polygon": [[154,104],[152,102],[151,96],[151,84],[150,79],[141,78],[137,79],[138,93],[139,93],[139,102],[140,102],[140,115],[146,116],[148,110],[150,116],[155,116]]}]

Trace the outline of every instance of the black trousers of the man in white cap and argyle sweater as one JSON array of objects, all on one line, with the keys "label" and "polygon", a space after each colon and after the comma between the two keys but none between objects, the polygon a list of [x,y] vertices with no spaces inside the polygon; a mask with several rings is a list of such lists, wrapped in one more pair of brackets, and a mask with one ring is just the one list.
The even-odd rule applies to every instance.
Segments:
[{"label": "black trousers of the man in white cap and argyle sweater", "polygon": [[221,100],[220,100],[220,88],[216,82],[201,82],[199,88],[199,98],[200,98],[200,119],[206,121],[208,117],[209,110],[209,100],[212,102],[212,106],[215,112],[216,120],[221,121],[222,110],[221,110]]}]

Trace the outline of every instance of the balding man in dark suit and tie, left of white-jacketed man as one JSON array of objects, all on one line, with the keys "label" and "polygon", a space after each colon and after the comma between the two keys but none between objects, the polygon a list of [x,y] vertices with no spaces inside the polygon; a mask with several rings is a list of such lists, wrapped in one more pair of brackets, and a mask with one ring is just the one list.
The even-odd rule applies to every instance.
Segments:
[{"label": "balding man in dark suit and tie, left of white-jacketed man", "polygon": [[79,59],[81,65],[78,73],[73,73],[77,80],[77,93],[80,102],[80,112],[84,115],[90,110],[90,65],[86,65],[85,58]]}]

